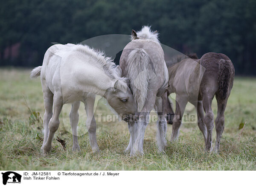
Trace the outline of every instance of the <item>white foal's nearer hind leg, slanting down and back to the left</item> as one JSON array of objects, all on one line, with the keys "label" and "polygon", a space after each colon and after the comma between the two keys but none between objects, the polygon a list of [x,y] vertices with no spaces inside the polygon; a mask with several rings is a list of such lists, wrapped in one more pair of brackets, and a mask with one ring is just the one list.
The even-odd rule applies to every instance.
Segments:
[{"label": "white foal's nearer hind leg, slanting down and back to the left", "polygon": [[62,109],[62,96],[60,93],[55,93],[53,96],[53,115],[49,121],[49,136],[44,145],[44,154],[47,154],[52,148],[52,138],[54,137],[55,132],[58,129],[60,124],[59,115]]}]

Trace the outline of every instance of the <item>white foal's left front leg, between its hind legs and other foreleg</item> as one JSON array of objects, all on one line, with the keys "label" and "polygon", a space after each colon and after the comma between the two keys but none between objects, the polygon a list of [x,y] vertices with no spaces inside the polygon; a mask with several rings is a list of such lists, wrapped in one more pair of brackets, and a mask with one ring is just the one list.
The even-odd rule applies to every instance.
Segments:
[{"label": "white foal's left front leg, between its hind legs and other foreleg", "polygon": [[73,134],[73,147],[72,151],[80,151],[80,147],[78,144],[78,139],[77,139],[77,124],[79,120],[79,113],[78,109],[80,106],[80,102],[74,102],[72,104],[72,108],[70,110],[70,125],[72,128],[72,134]]}]

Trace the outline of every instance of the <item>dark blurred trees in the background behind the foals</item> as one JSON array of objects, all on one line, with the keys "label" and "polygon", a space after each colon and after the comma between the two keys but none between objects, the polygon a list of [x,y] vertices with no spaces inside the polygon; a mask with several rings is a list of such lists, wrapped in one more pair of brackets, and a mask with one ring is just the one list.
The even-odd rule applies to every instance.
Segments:
[{"label": "dark blurred trees in the background behind the foals", "polygon": [[256,75],[255,0],[8,0],[0,3],[0,66],[34,67],[51,42],[130,34],[142,25],[183,53],[221,52]]}]

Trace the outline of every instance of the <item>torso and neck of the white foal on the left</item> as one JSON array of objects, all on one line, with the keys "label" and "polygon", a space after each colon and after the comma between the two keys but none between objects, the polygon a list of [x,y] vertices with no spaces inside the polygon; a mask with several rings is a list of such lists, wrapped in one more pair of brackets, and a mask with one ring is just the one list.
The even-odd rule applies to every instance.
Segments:
[{"label": "torso and neck of the white foal on the left", "polygon": [[105,56],[88,46],[53,45],[44,56],[42,86],[52,93],[60,92],[65,103],[77,101],[78,98],[83,100],[87,92],[102,95],[102,90],[107,90],[114,81],[103,72],[102,61],[105,61]]}]

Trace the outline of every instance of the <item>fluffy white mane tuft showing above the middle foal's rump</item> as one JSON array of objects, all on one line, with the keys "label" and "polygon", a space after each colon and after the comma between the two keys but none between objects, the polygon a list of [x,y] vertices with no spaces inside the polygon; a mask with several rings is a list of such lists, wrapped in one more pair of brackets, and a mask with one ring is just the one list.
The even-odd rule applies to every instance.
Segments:
[{"label": "fluffy white mane tuft showing above the middle foal's rump", "polygon": [[[160,43],[158,40],[158,33],[151,31],[151,26],[143,26],[142,29],[137,33],[138,39],[150,39],[152,41],[156,41],[157,43]],[[134,37],[131,36],[131,41],[134,40]]]}]

